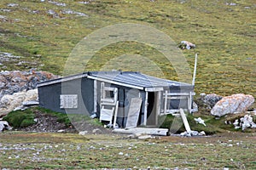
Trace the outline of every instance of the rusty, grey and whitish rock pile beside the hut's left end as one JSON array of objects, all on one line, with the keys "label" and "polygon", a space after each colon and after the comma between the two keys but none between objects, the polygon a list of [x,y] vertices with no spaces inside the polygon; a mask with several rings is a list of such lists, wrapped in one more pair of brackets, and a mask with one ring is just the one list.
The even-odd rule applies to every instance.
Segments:
[{"label": "rusty, grey and whitish rock pile beside the hut's left end", "polygon": [[38,100],[38,82],[57,76],[45,71],[0,72],[0,115],[5,115],[26,101]]}]

